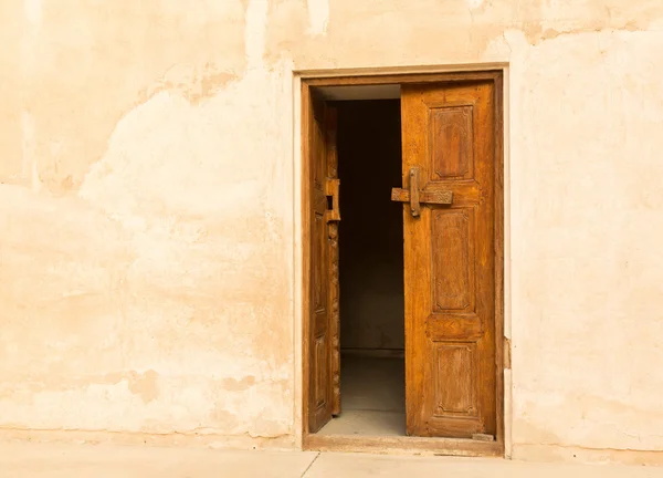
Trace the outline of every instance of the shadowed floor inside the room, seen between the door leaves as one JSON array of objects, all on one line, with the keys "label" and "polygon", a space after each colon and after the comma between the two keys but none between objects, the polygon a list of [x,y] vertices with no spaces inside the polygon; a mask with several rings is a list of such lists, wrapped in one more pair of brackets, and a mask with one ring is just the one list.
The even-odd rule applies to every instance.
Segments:
[{"label": "shadowed floor inside the room, seen between the door leaves", "polygon": [[406,435],[403,358],[341,357],[341,413],[322,435]]}]

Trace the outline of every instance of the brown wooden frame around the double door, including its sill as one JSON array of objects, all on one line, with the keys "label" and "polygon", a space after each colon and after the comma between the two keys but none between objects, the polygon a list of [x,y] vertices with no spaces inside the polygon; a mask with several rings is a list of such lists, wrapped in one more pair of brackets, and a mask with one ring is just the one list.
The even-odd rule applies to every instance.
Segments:
[{"label": "brown wooden frame around the double door, including its sill", "polygon": [[[495,362],[496,362],[496,417],[495,441],[423,437],[369,437],[357,435],[323,436],[308,433],[308,372],[309,372],[309,291],[311,291],[311,158],[307,132],[313,118],[309,115],[314,89],[324,86],[369,86],[408,83],[465,83],[492,81],[495,101]],[[316,76],[301,79],[301,245],[302,245],[302,447],[315,450],[346,451],[403,451],[434,453],[462,456],[504,456],[504,371],[511,368],[504,339],[504,71],[502,69],[450,73],[369,74],[347,76]],[[394,185],[397,186],[397,185]],[[343,298],[341,298],[343,300]],[[506,353],[505,353],[506,352]],[[506,360],[505,360],[506,358]]]}]

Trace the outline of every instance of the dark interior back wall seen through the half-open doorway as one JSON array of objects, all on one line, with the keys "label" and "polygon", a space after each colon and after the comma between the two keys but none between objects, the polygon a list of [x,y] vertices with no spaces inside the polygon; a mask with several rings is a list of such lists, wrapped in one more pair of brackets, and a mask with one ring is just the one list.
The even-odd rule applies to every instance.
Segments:
[{"label": "dark interior back wall seen through the half-open doorway", "polygon": [[340,346],[404,346],[399,100],[338,107]]}]

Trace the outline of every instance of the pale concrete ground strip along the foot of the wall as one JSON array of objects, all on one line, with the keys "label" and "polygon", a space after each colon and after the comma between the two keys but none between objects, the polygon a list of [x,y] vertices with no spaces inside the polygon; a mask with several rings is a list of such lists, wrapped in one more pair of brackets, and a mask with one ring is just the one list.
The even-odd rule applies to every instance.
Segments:
[{"label": "pale concrete ground strip along the foot of the wall", "polygon": [[662,478],[663,467],[315,451],[0,444],[1,478]]}]

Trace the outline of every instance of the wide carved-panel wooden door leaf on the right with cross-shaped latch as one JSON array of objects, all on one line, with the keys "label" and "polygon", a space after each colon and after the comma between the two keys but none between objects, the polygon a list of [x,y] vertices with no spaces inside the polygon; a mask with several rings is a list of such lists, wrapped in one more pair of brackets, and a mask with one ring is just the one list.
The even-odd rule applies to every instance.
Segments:
[{"label": "wide carved-panel wooden door leaf on the right with cross-shaped latch", "polygon": [[496,435],[493,90],[401,90],[408,435]]}]

